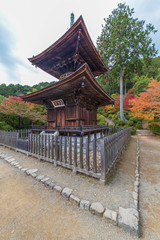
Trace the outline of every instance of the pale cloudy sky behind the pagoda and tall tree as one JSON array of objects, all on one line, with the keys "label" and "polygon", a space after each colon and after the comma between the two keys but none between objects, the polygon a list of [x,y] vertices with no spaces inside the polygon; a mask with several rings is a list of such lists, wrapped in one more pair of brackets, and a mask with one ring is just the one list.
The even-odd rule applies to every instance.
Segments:
[{"label": "pale cloudy sky behind the pagoda and tall tree", "polygon": [[[27,58],[45,50],[67,31],[71,12],[74,12],[75,20],[83,16],[96,44],[104,18],[111,14],[119,2],[124,1],[0,0],[0,25],[6,29],[3,32],[0,28],[0,84],[32,86],[42,81],[55,80],[34,68]],[[136,17],[159,28],[160,0],[127,0],[126,3],[135,9]],[[160,49],[160,33],[153,39]]]}]

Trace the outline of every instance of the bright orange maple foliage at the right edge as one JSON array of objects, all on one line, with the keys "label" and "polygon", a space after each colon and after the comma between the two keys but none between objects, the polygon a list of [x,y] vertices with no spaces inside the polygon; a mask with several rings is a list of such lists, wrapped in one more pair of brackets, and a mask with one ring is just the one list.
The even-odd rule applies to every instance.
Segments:
[{"label": "bright orange maple foliage at the right edge", "polygon": [[160,82],[152,79],[146,92],[130,100],[130,116],[144,120],[160,120]]}]

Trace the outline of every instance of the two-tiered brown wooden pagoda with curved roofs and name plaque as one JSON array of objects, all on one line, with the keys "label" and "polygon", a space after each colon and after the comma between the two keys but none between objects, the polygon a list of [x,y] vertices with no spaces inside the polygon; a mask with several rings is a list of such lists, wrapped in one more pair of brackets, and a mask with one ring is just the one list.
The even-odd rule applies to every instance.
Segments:
[{"label": "two-tiered brown wooden pagoda with curved roofs and name plaque", "polygon": [[59,79],[22,97],[24,101],[46,105],[48,128],[96,125],[97,108],[114,102],[94,78],[108,69],[82,16],[53,45],[29,61]]}]

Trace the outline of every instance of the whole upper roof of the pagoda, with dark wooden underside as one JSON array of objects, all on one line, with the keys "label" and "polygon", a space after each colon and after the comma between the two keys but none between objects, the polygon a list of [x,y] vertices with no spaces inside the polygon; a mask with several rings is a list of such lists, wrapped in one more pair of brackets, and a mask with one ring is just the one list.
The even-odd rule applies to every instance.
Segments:
[{"label": "whole upper roof of the pagoda, with dark wooden underside", "polygon": [[29,61],[56,78],[74,72],[85,62],[94,76],[108,70],[89,36],[82,16],[54,44],[29,58]]}]

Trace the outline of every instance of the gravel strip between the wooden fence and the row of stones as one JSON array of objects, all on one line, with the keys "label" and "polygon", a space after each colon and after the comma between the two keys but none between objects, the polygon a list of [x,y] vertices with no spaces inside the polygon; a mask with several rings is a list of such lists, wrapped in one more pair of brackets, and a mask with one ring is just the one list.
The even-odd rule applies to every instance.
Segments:
[{"label": "gravel strip between the wooden fence and the row of stones", "polygon": [[[0,152],[13,156],[23,167],[37,168],[38,173],[49,178],[61,187],[72,188],[73,194],[80,199],[90,202],[101,202],[104,207],[118,211],[119,206],[127,208],[133,203],[132,191],[134,184],[136,139],[131,138],[127,149],[124,151],[116,170],[109,178],[106,186],[100,185],[99,180],[82,174],[73,175],[71,170],[55,167],[52,163],[39,161],[27,157],[8,148],[0,147]],[[121,197],[123,196],[123,197]]]}]

